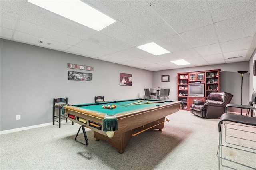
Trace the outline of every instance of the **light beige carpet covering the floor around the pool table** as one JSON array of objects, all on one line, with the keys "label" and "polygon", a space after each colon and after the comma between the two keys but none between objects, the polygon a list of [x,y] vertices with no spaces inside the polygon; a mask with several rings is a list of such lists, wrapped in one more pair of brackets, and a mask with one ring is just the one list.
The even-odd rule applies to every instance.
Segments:
[{"label": "light beige carpet covering the floor around the pool table", "polygon": [[[170,122],[165,122],[162,132],[148,130],[134,136],[123,154],[105,141],[95,141],[88,128],[89,145],[76,142],[74,138],[80,125],[70,122],[62,123],[61,128],[50,125],[2,134],[0,169],[218,169],[219,119],[202,119],[182,110],[167,118]],[[78,140],[83,140],[82,130]],[[233,151],[228,153],[232,153],[231,156],[236,154]],[[241,159],[254,166],[256,156],[245,154]]]}]

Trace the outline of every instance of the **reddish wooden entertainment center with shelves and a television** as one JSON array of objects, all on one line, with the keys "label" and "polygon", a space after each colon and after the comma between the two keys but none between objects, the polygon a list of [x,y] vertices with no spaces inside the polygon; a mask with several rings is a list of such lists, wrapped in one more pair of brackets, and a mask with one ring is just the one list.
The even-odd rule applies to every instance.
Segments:
[{"label": "reddish wooden entertainment center with shelves and a television", "polygon": [[220,91],[220,69],[178,74],[178,101],[190,110],[194,99],[205,101],[213,91]]}]

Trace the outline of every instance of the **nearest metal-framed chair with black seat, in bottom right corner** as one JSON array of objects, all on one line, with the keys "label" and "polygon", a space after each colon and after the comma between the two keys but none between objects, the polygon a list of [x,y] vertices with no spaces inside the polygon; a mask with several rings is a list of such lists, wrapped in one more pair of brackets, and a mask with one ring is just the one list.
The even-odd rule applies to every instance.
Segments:
[{"label": "nearest metal-framed chair with black seat, in bottom right corner", "polygon": [[[234,122],[236,124],[232,124],[231,128],[227,127],[230,122]],[[223,127],[223,124],[224,124],[224,127]],[[249,126],[247,126],[247,125],[249,125]],[[246,129],[241,129],[241,126],[245,126]],[[236,154],[243,155],[243,154],[246,154],[246,152],[248,152],[248,155],[251,155],[251,156],[252,156],[252,154],[256,154],[255,144],[249,145],[249,146],[246,144],[243,144],[244,141],[253,142],[253,143],[256,142],[256,140],[250,140],[247,138],[248,133],[250,133],[252,135],[255,134],[255,132],[254,132],[255,126],[256,126],[256,117],[246,117],[243,115],[234,115],[231,113],[224,113],[221,115],[220,121],[218,123],[218,129],[219,129],[219,146],[218,146],[218,152],[217,152],[218,169],[220,169],[220,165],[228,167],[230,169],[234,169],[234,167],[223,165],[222,159],[225,160],[225,162],[229,161],[229,162],[238,164],[240,166],[245,166],[247,168],[252,168],[252,169],[256,168],[256,166],[251,167],[248,164],[247,165],[242,164],[239,160],[235,160],[234,156],[232,156],[232,154],[233,155],[236,155]],[[230,134],[232,134],[232,132],[231,133],[227,132],[228,129],[231,129],[233,134],[234,134],[234,130],[240,131],[238,133],[239,136],[230,135]],[[252,130],[250,130],[250,129],[252,129]],[[223,133],[225,134],[224,139],[223,139]],[[228,133],[228,135],[227,135],[227,133]],[[228,137],[229,137],[229,139],[227,139]],[[224,141],[222,141],[222,140],[224,140]],[[223,147],[225,147],[226,149],[223,150]],[[236,152],[236,150],[238,150],[238,152]],[[252,150],[254,150],[254,152]],[[230,152],[232,154],[226,153],[226,154],[222,155],[222,152]],[[256,165],[256,164],[254,163],[254,165]],[[237,167],[236,167],[236,169],[237,169]]]}]

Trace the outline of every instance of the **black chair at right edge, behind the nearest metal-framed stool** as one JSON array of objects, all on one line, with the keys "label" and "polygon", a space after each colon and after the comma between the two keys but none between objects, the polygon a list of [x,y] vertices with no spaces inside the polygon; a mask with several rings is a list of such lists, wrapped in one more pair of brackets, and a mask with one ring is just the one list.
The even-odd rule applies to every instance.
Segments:
[{"label": "black chair at right edge, behind the nearest metal-framed stool", "polygon": [[[249,116],[249,113],[251,112],[251,117],[253,117],[253,111],[256,110],[254,107],[256,103],[256,91],[252,93],[252,100],[249,102],[249,105],[236,105],[236,104],[227,104],[225,108],[225,113],[227,113],[228,107],[236,107],[241,109],[241,114],[242,114],[242,109],[247,109],[246,116]],[[255,117],[255,115],[254,115]]]}]

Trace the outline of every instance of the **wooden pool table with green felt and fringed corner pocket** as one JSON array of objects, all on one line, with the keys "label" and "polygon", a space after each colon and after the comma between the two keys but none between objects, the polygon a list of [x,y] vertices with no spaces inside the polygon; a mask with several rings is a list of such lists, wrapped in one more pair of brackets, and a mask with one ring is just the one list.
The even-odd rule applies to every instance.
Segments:
[{"label": "wooden pool table with green felt and fringed corner pocket", "polygon": [[[162,131],[165,117],[179,111],[180,104],[180,101],[129,99],[64,108],[70,121],[94,131],[96,141],[106,140],[117,148],[119,153],[123,153],[135,133],[150,127]],[[116,108],[105,109],[104,105],[116,105]]]}]

